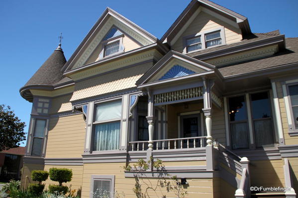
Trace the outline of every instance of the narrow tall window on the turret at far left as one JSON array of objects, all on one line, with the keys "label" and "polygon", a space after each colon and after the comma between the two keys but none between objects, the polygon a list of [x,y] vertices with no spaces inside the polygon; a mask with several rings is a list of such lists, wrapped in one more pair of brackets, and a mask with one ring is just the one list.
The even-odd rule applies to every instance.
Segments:
[{"label": "narrow tall window on the turret at far left", "polygon": [[46,127],[46,120],[41,120],[41,119],[35,120],[32,151],[31,151],[31,155],[33,156],[41,155],[45,127]]}]

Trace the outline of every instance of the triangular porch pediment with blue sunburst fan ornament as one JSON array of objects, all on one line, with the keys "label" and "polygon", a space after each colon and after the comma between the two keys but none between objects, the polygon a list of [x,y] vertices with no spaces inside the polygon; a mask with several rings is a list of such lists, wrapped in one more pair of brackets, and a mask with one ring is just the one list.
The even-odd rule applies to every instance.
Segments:
[{"label": "triangular porch pediment with blue sunburst fan ornament", "polygon": [[170,51],[151,67],[136,84],[141,85],[156,81],[166,81],[172,78],[183,78],[214,69],[215,67],[210,64],[175,51]]}]

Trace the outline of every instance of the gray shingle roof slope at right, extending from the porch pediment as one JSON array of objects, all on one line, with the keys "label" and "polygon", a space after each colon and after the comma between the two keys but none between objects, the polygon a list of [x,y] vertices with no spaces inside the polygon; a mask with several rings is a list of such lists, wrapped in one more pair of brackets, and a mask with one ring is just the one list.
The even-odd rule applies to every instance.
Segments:
[{"label": "gray shingle roof slope at right, extending from the porch pediment", "polygon": [[286,50],[273,57],[218,68],[223,76],[231,76],[260,69],[298,63],[298,38],[286,38]]}]

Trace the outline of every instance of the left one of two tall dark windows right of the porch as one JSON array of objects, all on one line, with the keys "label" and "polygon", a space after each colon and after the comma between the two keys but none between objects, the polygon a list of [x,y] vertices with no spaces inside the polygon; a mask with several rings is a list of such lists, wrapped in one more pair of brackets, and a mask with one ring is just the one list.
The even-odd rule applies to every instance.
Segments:
[{"label": "left one of two tall dark windows right of the porch", "polygon": [[249,148],[247,106],[244,96],[229,98],[229,117],[232,148]]}]

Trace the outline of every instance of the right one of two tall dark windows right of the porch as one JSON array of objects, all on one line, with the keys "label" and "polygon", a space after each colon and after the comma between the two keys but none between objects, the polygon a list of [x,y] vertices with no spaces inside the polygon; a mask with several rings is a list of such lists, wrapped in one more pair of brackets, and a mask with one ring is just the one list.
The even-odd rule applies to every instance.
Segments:
[{"label": "right one of two tall dark windows right of the porch", "polygon": [[251,114],[256,148],[273,147],[274,132],[267,92],[251,94]]}]

